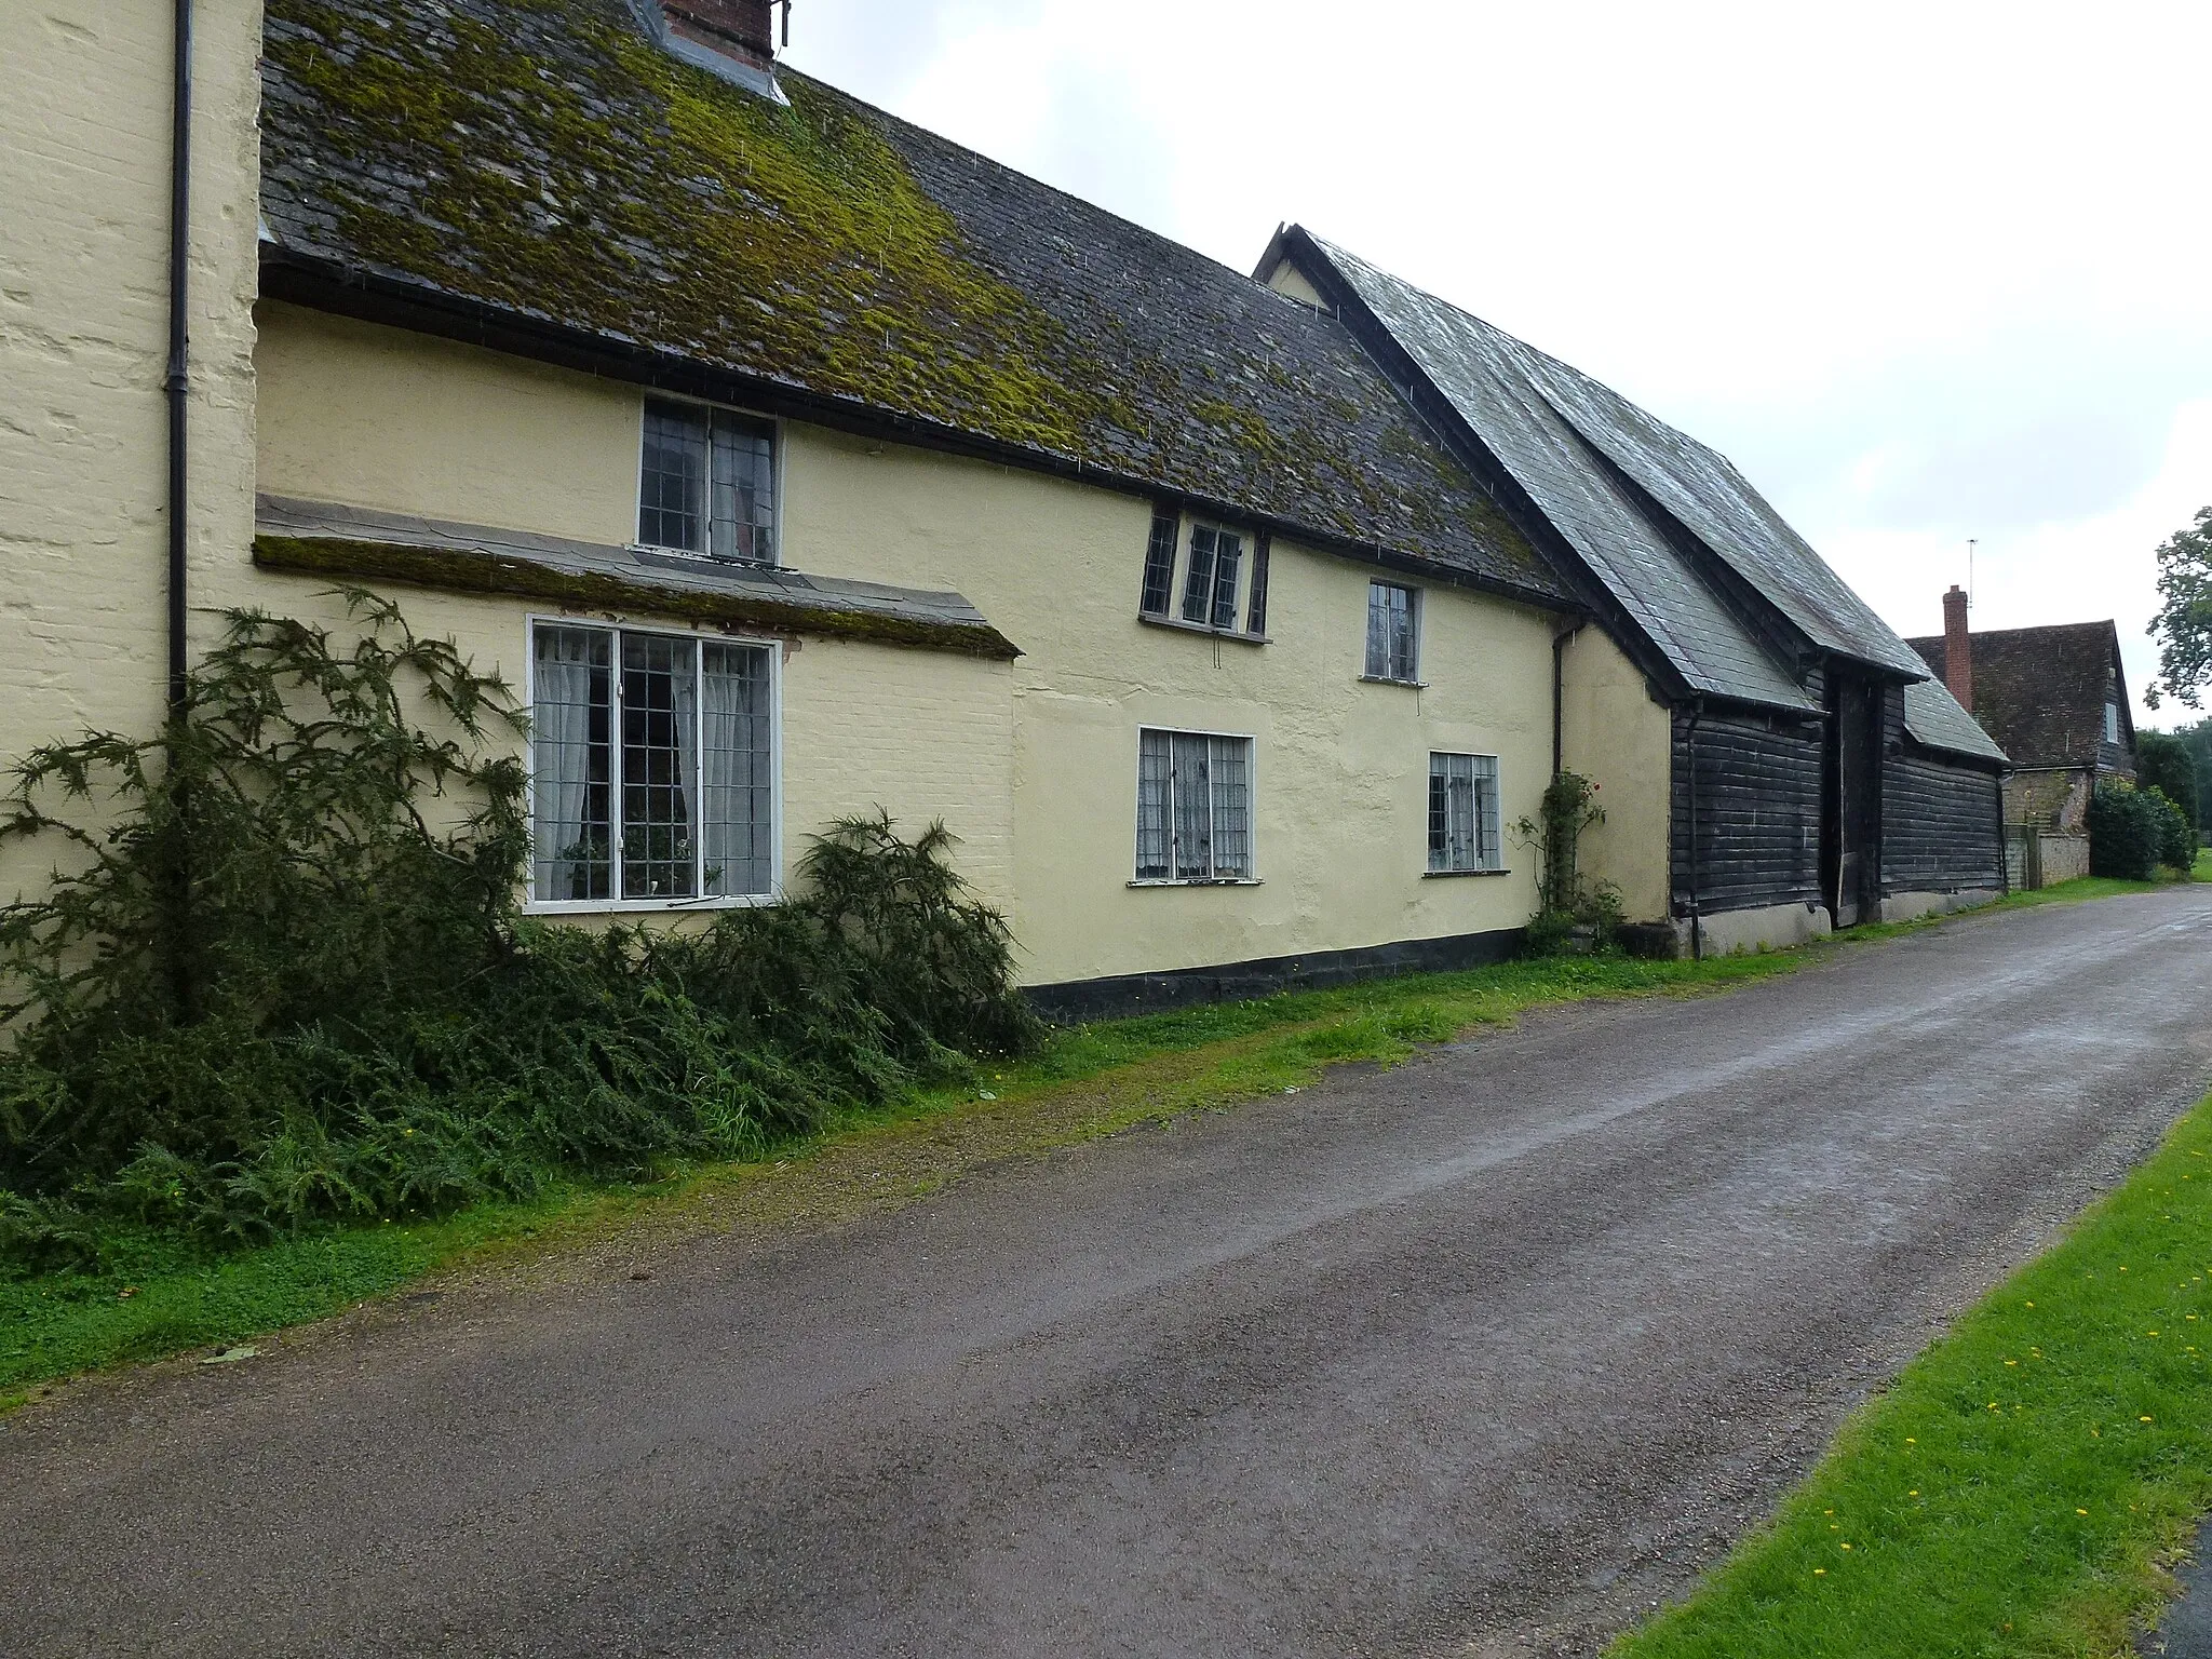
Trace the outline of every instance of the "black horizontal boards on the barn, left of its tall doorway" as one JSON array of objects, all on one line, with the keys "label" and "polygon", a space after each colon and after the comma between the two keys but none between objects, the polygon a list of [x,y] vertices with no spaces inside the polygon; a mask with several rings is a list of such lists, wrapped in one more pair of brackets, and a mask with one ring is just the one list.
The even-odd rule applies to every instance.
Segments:
[{"label": "black horizontal boards on the barn, left of its tall doorway", "polygon": [[1694,898],[1705,914],[1820,898],[1820,728],[1790,717],[1674,714],[1674,900],[1692,898],[1690,754],[1697,752]]}]

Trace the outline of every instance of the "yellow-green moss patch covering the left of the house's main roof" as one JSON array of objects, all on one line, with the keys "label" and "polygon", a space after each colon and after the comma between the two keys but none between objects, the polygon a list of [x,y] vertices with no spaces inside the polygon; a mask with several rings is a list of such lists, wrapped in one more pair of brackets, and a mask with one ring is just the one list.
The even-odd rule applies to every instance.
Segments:
[{"label": "yellow-green moss patch covering the left of the house's main roof", "polygon": [[807,82],[772,104],[597,4],[535,7],[575,49],[557,69],[458,9],[442,40],[319,0],[270,11],[290,24],[270,62],[336,117],[325,142],[420,177],[345,201],[372,263],[708,361],[737,345],[796,385],[1060,453],[1102,414],[1033,367],[1066,361],[1064,330]]}]

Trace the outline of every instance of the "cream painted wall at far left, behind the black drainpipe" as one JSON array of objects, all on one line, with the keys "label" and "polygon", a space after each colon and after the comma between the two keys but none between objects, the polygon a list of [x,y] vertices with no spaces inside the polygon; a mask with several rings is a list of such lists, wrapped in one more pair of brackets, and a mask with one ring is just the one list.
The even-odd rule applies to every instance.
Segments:
[{"label": "cream painted wall at far left, behind the black drainpipe", "polygon": [[[168,0],[0,4],[0,765],[164,708]],[[192,108],[192,602],[252,522],[261,7],[199,0]],[[195,613],[192,639],[219,626]],[[0,849],[0,898],[53,847]]]}]

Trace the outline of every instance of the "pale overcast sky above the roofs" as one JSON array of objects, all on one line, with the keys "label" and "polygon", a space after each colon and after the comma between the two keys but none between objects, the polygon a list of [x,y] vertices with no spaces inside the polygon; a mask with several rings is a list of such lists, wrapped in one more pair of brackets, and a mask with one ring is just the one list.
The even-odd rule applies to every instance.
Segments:
[{"label": "pale overcast sky above the roofs", "polygon": [[1978,538],[1975,628],[2115,617],[2141,697],[2152,549],[2212,504],[2203,0],[796,0],[790,60],[1237,270],[1298,221],[1520,334],[1898,633]]}]

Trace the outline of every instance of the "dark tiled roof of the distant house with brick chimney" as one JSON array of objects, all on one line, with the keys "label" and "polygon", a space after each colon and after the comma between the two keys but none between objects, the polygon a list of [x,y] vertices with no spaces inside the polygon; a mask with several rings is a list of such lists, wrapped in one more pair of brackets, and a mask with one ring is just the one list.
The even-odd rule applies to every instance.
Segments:
[{"label": "dark tiled roof of the distant house with brick chimney", "polygon": [[[1944,641],[1913,639],[1940,679]],[[1973,714],[2013,765],[2095,765],[2104,745],[2104,695],[2119,675],[2110,622],[1997,628],[1973,635]],[[2126,706],[2126,697],[2121,697]]]}]

